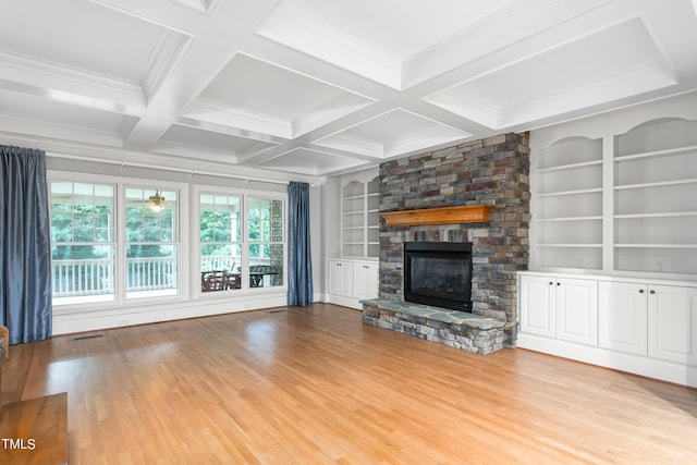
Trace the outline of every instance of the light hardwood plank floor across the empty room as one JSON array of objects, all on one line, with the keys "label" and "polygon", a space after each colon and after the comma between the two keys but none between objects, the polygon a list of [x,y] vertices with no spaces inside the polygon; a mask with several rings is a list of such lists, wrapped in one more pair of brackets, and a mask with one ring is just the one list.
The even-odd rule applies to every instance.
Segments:
[{"label": "light hardwood plank floor across the empty room", "polygon": [[68,392],[70,464],[697,463],[696,390],[333,305],[94,334],[3,370],[4,402]]}]

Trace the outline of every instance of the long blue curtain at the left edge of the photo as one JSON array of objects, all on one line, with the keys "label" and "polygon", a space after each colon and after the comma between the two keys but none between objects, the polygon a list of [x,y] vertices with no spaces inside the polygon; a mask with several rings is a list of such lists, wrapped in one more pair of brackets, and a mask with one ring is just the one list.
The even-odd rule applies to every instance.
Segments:
[{"label": "long blue curtain at the left edge of the photo", "polygon": [[0,146],[0,325],[10,343],[51,336],[51,244],[41,150]]}]

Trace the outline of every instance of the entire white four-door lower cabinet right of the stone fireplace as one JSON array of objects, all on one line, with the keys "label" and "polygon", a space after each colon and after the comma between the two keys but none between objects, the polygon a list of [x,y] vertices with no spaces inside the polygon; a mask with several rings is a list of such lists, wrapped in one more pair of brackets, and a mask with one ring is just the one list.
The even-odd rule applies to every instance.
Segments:
[{"label": "entire white four-door lower cabinet right of the stone fireplace", "polygon": [[697,282],[518,273],[517,345],[697,388]]}]

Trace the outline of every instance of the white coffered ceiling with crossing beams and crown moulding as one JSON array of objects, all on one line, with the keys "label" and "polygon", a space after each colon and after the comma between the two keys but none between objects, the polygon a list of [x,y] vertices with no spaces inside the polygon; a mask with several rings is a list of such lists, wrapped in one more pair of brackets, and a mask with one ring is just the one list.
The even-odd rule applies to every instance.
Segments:
[{"label": "white coffered ceiling with crossing beams and crown moulding", "polygon": [[3,0],[0,142],[326,176],[697,88],[697,0]]}]

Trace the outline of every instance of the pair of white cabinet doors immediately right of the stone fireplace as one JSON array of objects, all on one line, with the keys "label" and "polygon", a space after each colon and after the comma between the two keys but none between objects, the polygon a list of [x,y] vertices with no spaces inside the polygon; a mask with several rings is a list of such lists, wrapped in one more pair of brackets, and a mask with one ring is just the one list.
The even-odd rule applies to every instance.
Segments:
[{"label": "pair of white cabinet doors immediately right of the stone fireplace", "polygon": [[596,345],[596,281],[526,276],[519,282],[521,331]]}]

